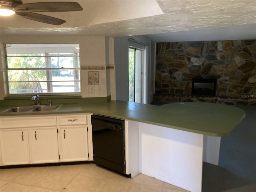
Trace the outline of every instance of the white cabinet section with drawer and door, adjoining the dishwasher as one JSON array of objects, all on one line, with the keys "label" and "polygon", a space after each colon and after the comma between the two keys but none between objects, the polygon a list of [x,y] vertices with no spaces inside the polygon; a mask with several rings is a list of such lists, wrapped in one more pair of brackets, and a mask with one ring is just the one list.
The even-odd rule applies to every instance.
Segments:
[{"label": "white cabinet section with drawer and door, adjoining the dishwasher", "polygon": [[61,162],[89,160],[89,115],[58,116],[58,141]]}]

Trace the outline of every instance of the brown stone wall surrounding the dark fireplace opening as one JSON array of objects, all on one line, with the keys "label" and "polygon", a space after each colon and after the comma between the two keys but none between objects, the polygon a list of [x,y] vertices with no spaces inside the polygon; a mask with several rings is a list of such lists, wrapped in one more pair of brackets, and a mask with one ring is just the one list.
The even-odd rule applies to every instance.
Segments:
[{"label": "brown stone wall surrounding the dark fireplace opening", "polygon": [[216,97],[203,97],[202,101],[256,105],[256,40],[165,42],[156,46],[154,101],[198,101],[193,99],[198,96],[191,96],[192,78],[215,78]]}]

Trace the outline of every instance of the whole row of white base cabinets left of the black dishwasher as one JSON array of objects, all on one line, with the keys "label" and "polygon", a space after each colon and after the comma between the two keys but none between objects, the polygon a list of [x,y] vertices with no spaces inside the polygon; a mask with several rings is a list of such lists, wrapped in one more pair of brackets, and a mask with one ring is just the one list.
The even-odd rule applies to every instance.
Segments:
[{"label": "whole row of white base cabinets left of the black dishwasher", "polygon": [[91,114],[0,119],[1,165],[93,160]]}]

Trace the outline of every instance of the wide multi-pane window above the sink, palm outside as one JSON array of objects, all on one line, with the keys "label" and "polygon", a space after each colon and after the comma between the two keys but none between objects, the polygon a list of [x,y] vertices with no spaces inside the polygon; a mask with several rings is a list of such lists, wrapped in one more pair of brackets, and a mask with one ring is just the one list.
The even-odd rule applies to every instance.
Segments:
[{"label": "wide multi-pane window above the sink, palm outside", "polygon": [[9,94],[80,94],[78,44],[6,44]]}]

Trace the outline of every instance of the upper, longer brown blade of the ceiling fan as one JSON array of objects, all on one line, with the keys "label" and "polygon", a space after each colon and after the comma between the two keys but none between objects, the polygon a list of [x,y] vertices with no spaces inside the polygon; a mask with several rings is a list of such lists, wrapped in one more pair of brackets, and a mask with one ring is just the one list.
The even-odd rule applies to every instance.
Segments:
[{"label": "upper, longer brown blade of the ceiling fan", "polygon": [[83,8],[77,2],[38,2],[18,5],[15,7],[15,10],[28,12],[65,12],[82,11]]}]

